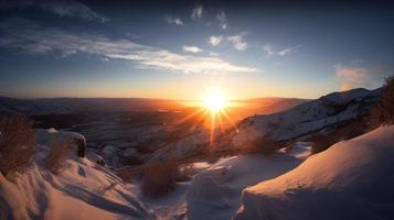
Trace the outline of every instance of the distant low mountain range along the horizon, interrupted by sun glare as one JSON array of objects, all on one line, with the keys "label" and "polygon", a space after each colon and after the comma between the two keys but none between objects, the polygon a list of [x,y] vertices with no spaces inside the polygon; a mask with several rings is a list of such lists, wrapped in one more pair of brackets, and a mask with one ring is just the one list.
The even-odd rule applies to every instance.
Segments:
[{"label": "distant low mountain range along the horizon, interrupted by sun glare", "polygon": [[[243,117],[249,114],[267,114],[286,110],[306,99],[295,98],[259,98],[243,100]],[[0,112],[13,112],[28,116],[66,114],[76,112],[123,112],[123,111],[158,111],[181,110],[190,108],[182,100],[145,99],[145,98],[47,98],[15,99],[0,97]]]}]

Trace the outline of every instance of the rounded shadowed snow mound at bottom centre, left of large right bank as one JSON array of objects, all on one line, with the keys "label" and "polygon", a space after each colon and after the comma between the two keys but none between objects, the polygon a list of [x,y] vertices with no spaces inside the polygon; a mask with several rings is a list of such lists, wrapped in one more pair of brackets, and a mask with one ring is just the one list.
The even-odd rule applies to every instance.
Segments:
[{"label": "rounded shadowed snow mound at bottom centre, left of large right bank", "polygon": [[274,178],[300,163],[300,158],[285,154],[269,158],[241,155],[220,160],[194,177],[187,197],[188,219],[231,219],[239,207],[245,187]]}]

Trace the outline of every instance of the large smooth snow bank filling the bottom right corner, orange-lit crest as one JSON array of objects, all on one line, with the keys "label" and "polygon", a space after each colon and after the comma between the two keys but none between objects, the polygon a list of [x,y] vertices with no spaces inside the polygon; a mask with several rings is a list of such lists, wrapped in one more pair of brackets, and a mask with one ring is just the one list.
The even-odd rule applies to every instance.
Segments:
[{"label": "large smooth snow bank filling the bottom right corner, orange-lit crest", "polygon": [[394,219],[394,125],[248,187],[235,219]]}]

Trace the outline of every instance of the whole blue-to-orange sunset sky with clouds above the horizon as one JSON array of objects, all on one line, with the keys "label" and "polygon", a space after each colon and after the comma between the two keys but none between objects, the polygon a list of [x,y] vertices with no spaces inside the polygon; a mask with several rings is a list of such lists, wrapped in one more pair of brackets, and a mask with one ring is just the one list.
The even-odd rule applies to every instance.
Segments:
[{"label": "whole blue-to-orange sunset sky with clouds above the horizon", "polygon": [[0,96],[318,98],[394,73],[388,1],[0,0]]}]

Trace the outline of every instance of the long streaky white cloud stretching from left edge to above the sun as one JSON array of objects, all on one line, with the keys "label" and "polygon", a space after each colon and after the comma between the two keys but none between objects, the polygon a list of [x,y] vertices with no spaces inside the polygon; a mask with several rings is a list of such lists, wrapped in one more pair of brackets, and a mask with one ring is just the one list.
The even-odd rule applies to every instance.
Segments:
[{"label": "long streaky white cloud stretching from left edge to above the sun", "polygon": [[58,29],[42,28],[26,20],[0,23],[0,46],[34,55],[73,54],[124,59],[137,68],[155,68],[180,73],[251,73],[257,69],[230,64],[219,57],[180,55],[167,50],[134,43],[129,40],[110,40],[105,36],[75,34]]}]

